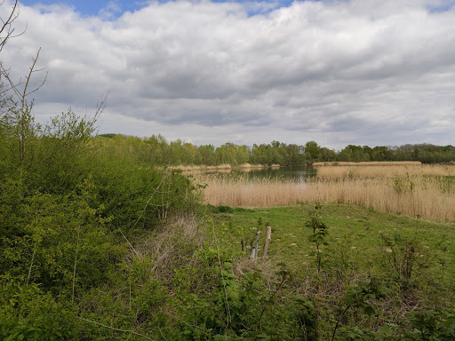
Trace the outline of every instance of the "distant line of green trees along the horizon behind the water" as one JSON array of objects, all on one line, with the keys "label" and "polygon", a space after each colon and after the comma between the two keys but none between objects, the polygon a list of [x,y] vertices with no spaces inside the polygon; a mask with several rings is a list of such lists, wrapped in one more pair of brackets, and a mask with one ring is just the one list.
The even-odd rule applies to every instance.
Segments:
[{"label": "distant line of green trees along the horizon behind the water", "polygon": [[453,163],[455,147],[432,144],[406,144],[391,146],[348,145],[339,151],[319,146],[315,141],[305,145],[272,141],[252,147],[225,143],[196,146],[176,139],[167,141],[162,135],[140,139],[122,134],[101,134],[97,137],[102,148],[129,154],[138,161],[156,165],[280,164],[282,166],[307,165],[316,162],[368,162],[368,161],[419,161],[421,163]]}]

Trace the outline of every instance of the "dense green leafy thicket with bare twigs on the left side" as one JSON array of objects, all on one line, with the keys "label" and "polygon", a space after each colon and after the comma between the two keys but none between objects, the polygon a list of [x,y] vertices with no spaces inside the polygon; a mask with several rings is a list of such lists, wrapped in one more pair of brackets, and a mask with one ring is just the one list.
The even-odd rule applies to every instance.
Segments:
[{"label": "dense green leafy thicket with bare twigs on the left side", "polygon": [[[2,18],[0,51],[24,33],[13,27],[19,13],[16,1]],[[200,196],[180,171],[100,146],[92,136],[106,99],[92,117],[69,110],[36,123],[28,95],[40,86],[28,85],[38,57],[24,82],[0,63],[0,338],[92,340],[128,329],[138,339],[135,329],[160,325],[150,312],[165,290],[147,260],[128,258],[133,244],[193,214]]]}]

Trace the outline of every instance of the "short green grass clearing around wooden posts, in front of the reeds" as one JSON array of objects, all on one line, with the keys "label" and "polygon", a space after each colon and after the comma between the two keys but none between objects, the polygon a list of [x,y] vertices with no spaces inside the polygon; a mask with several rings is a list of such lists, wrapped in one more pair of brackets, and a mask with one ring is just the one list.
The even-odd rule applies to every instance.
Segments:
[{"label": "short green grass clearing around wooden posts, in front of the reeds", "polygon": [[[217,233],[225,243],[240,248],[242,236],[251,240],[263,224],[259,245],[263,244],[265,226],[272,226],[268,255],[283,261],[294,270],[302,266],[315,268],[315,245],[308,242],[311,230],[305,223],[311,219],[314,205],[226,210],[215,215]],[[405,257],[404,245],[411,245],[413,274],[424,277],[428,285],[455,288],[455,225],[436,223],[390,213],[368,210],[347,204],[323,204],[323,221],[329,227],[328,245],[323,246],[331,266],[351,266],[363,275],[393,273],[393,266]],[[385,238],[395,242],[394,254]],[[400,247],[402,250],[400,250]],[[396,253],[395,253],[396,250]],[[393,255],[397,260],[393,259]],[[259,250],[260,256],[260,250]],[[350,262],[349,264],[342,264]]]}]

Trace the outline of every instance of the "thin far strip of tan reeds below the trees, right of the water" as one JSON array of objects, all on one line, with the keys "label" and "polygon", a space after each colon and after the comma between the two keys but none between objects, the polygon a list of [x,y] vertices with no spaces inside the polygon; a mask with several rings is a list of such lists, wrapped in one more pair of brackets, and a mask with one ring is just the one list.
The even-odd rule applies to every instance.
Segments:
[{"label": "thin far strip of tan reeds below the trees, right of the water", "polygon": [[455,176],[455,166],[438,164],[318,166],[318,178],[395,178],[397,176]]}]

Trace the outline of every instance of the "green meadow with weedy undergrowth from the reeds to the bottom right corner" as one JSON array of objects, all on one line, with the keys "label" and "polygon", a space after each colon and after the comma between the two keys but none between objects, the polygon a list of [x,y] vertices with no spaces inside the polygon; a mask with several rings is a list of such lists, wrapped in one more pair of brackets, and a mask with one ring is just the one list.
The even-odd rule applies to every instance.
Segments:
[{"label": "green meadow with weedy undergrowth from the reeds to the bottom right corner", "polygon": [[[233,268],[238,278],[255,271],[268,283],[279,282],[276,274],[284,266],[289,277],[281,289],[282,297],[300,295],[313,303],[317,335],[311,335],[308,328],[308,335],[314,338],[290,339],[455,337],[453,223],[344,203],[326,203],[315,211],[315,205],[220,206],[215,216],[220,240],[234,249]],[[266,226],[272,227],[272,238],[264,262],[261,251]],[[251,245],[257,232],[259,259],[254,261],[246,257],[248,248],[246,252],[240,249],[243,243]],[[276,290],[276,284],[270,285]]]}]

